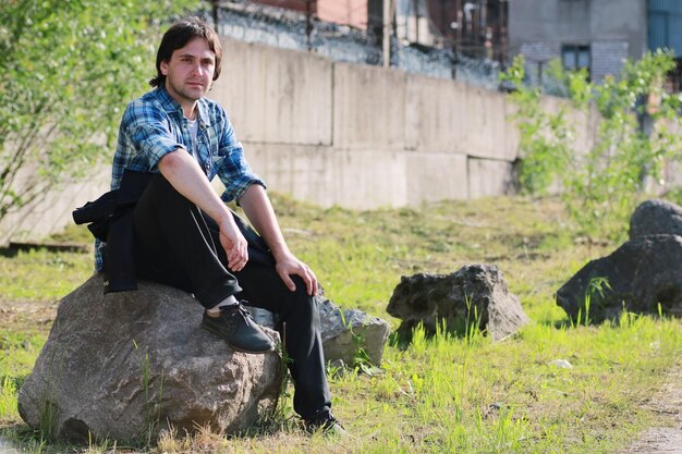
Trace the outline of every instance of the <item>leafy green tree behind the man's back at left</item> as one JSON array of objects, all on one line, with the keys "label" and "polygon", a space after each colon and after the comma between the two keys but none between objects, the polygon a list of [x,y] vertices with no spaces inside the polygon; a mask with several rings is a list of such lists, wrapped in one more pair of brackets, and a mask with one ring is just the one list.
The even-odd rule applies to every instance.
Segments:
[{"label": "leafy green tree behind the man's back at left", "polygon": [[111,156],[160,25],[198,0],[0,2],[0,219]]}]

